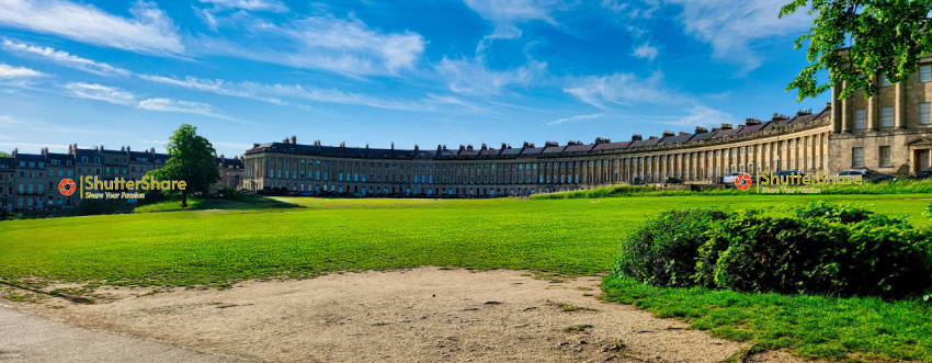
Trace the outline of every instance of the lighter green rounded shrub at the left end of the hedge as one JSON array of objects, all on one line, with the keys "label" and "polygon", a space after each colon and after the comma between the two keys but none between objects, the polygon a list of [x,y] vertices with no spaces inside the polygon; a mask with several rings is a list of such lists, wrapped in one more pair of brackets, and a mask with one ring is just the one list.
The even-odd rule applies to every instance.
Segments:
[{"label": "lighter green rounded shrub at the left end of the hedge", "polygon": [[615,271],[658,286],[689,286],[698,247],[718,211],[670,211],[648,219],[622,245]]}]

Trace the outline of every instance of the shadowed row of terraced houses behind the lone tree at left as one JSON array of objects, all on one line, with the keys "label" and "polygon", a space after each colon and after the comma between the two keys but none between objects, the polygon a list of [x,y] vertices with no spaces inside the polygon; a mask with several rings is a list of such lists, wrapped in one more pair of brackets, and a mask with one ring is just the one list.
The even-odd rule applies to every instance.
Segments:
[{"label": "shadowed row of terraced houses behind the lone tree at left", "polygon": [[[76,182],[84,175],[98,175],[103,180],[123,178],[140,180],[147,172],[164,167],[167,154],[155,149],[133,151],[129,147],[110,150],[103,146],[78,148],[69,145],[68,154],[22,154],[13,150],[11,157],[0,158],[0,208],[27,211],[47,207],[68,207],[80,203],[77,193],[70,196],[58,191],[62,179]],[[220,188],[239,188],[242,159],[220,156]]]}]

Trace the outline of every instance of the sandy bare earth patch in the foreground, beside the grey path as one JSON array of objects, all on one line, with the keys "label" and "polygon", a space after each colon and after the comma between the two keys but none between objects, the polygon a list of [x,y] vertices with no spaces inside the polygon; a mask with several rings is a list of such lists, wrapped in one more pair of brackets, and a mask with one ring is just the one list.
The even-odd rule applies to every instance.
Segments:
[{"label": "sandy bare earth patch in the foreground, beside the grey path", "polygon": [[224,291],[99,288],[95,294],[111,298],[93,305],[49,298],[16,308],[263,361],[719,362],[747,348],[601,302],[592,296],[600,282],[420,268],[246,282]]}]

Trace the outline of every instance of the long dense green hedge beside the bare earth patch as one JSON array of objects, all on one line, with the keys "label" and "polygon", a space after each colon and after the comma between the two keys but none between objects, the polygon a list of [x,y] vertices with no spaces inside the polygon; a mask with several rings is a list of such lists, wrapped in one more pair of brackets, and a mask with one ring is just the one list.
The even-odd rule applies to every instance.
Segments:
[{"label": "long dense green hedge beside the bare earth patch", "polygon": [[657,286],[901,297],[932,292],[932,232],[816,202],[789,215],[673,211],[622,245],[618,273]]}]

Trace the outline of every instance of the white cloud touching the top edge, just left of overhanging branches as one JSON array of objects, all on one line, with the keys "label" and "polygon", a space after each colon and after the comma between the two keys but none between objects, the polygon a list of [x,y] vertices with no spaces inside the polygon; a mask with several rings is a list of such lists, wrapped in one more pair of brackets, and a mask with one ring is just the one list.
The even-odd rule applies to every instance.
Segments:
[{"label": "white cloud touching the top edge, just left of overhanging branches", "polygon": [[754,41],[795,34],[811,25],[803,13],[780,19],[784,0],[668,2],[682,5],[680,22],[686,34],[712,45],[714,58],[743,65],[741,72],[761,65]]}]

